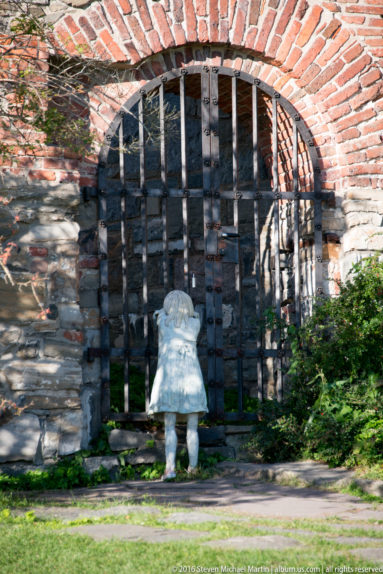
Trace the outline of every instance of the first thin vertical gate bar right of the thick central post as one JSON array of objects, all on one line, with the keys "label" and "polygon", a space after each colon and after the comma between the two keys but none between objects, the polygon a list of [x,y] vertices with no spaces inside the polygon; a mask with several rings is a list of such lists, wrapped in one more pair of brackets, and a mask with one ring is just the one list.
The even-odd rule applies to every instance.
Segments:
[{"label": "first thin vertical gate bar right of the thick central post", "polygon": [[[238,212],[238,113],[237,113],[237,78],[231,79],[231,107],[232,107],[232,132],[233,132],[233,223],[236,233],[239,233],[239,212]],[[238,263],[235,264],[235,293],[236,304],[238,309],[237,320],[237,386],[238,386],[238,412],[243,413],[243,359],[241,357],[242,346],[242,285],[241,285],[241,258],[240,258],[240,239],[237,240]]]}]

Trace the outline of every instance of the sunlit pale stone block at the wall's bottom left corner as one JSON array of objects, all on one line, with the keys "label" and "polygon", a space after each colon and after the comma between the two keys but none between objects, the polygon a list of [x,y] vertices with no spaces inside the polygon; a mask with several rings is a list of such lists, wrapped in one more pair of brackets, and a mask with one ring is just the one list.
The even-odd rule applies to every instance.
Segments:
[{"label": "sunlit pale stone block at the wall's bottom left corner", "polygon": [[41,436],[36,415],[22,414],[0,427],[0,462],[33,461]]}]

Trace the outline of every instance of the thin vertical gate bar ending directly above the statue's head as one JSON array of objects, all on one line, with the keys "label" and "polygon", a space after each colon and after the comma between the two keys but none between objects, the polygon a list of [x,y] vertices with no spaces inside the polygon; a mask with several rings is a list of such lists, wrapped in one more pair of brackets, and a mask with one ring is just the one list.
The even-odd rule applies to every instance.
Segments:
[{"label": "thin vertical gate bar ending directly above the statue's head", "polygon": [[185,75],[180,77],[180,110],[181,110],[181,181],[184,197],[182,198],[182,225],[184,243],[184,290],[190,291],[189,280],[189,218],[188,218],[188,172],[187,172],[187,150],[186,150],[186,92]]}]

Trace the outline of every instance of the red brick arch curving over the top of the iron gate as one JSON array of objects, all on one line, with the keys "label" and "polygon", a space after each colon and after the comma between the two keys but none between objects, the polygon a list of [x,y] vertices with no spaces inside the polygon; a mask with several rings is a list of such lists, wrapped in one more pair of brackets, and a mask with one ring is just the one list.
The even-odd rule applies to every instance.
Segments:
[{"label": "red brick arch curving over the top of the iron gate", "polygon": [[104,0],[64,14],[55,34],[140,83],[201,62],[259,77],[305,119],[323,186],[340,190],[380,185],[381,14],[378,2]]}]

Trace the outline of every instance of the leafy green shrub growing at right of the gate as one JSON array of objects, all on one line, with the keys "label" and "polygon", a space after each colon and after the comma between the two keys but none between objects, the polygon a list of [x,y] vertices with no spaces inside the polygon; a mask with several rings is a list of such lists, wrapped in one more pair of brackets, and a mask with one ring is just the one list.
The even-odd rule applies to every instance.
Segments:
[{"label": "leafy green shrub growing at right of the gate", "polygon": [[360,261],[339,288],[301,329],[284,326],[289,393],[262,405],[249,445],[265,461],[383,462],[383,262]]}]

